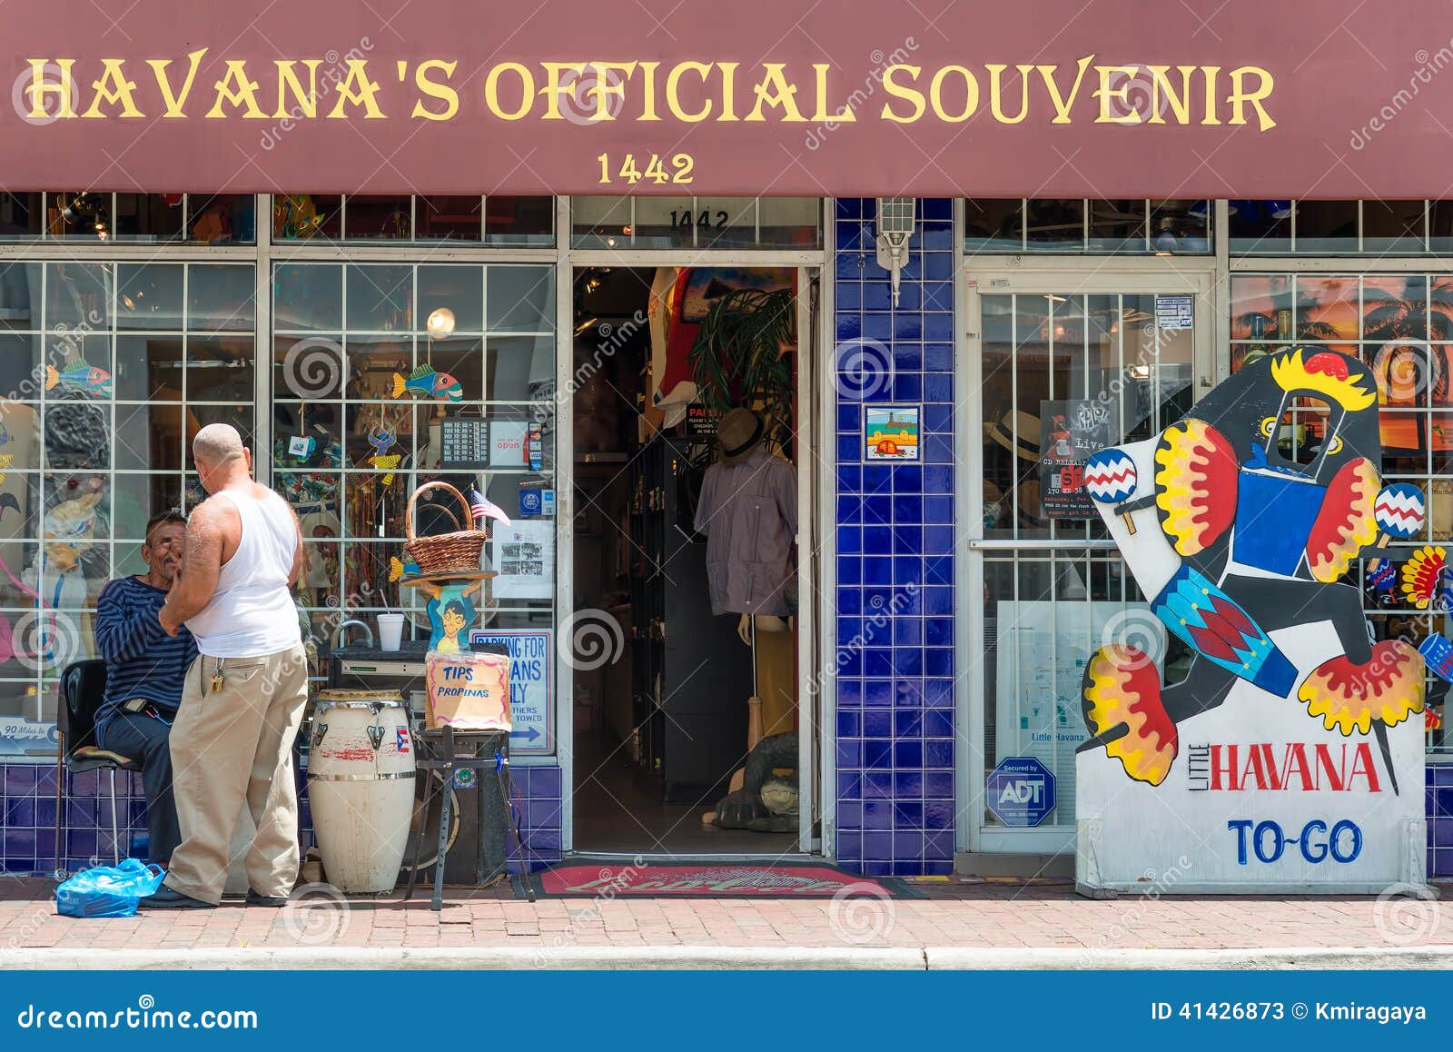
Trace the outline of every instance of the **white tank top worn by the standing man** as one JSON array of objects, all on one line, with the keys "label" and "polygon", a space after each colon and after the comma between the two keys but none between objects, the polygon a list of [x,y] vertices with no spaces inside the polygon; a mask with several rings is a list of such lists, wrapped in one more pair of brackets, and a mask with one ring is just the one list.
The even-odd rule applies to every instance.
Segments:
[{"label": "white tank top worn by the standing man", "polygon": [[232,501],[243,535],[218,574],[212,602],[186,623],[198,650],[208,657],[240,658],[299,645],[302,629],[288,588],[298,530],[288,504],[276,493],[262,500],[231,490],[216,495]]}]

